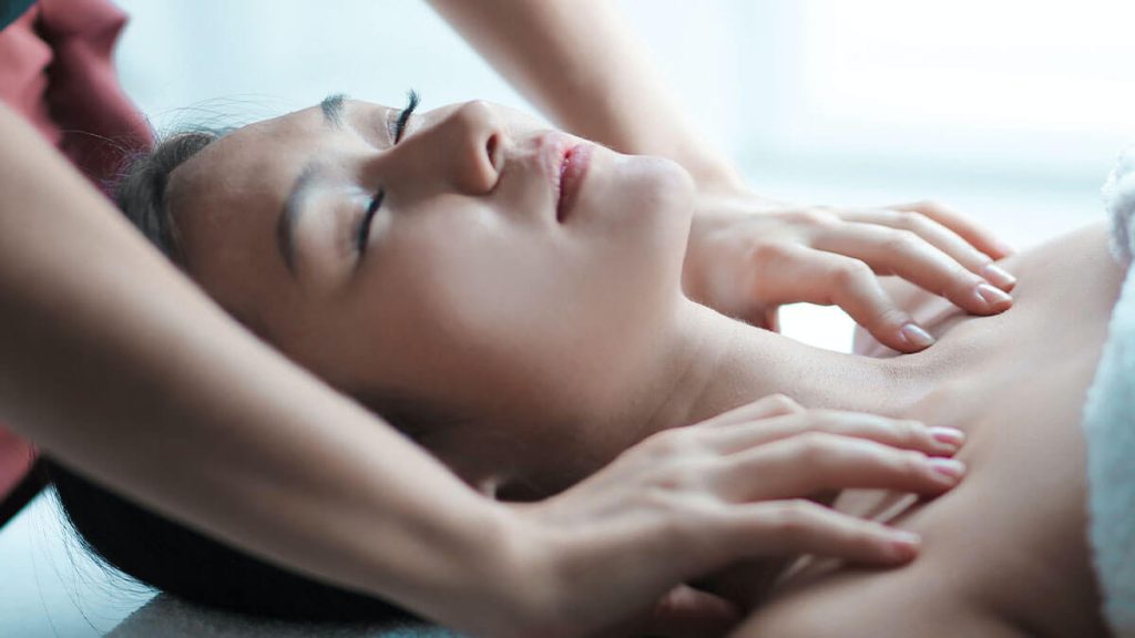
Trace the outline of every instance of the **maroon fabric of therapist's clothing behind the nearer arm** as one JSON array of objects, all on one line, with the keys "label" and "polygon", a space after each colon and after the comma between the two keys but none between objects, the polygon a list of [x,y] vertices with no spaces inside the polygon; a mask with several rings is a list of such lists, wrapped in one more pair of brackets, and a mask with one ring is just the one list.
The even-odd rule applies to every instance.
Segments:
[{"label": "maroon fabric of therapist's clothing behind the nearer arm", "polygon": [[[125,24],[108,0],[41,0],[0,31],[0,100],[100,187],[153,140],[115,74],[111,52]],[[0,428],[0,502],[33,456]]]}]

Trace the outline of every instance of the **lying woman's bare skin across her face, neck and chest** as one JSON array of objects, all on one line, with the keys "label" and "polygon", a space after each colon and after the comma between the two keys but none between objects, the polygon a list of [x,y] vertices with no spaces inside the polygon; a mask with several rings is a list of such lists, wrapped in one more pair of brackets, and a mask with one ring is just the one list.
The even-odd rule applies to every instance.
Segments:
[{"label": "lying woman's bare skin across her face, neck and chest", "polygon": [[[382,112],[354,108],[348,115],[354,112],[360,126],[370,121],[368,114]],[[234,134],[191,160],[175,173],[171,191],[194,276],[238,316],[261,322],[276,345],[337,385],[401,387],[428,393],[424,398],[435,405],[459,405],[464,422],[427,433],[427,442],[465,480],[489,492],[527,489],[529,497],[557,492],[637,442],[777,393],[808,408],[914,418],[969,431],[973,440],[960,459],[980,475],[977,487],[960,492],[967,497],[950,496],[899,519],[935,547],[928,566],[890,574],[846,571],[814,588],[804,587],[800,577],[799,589],[787,582],[741,635],[810,636],[822,628],[808,623],[840,618],[833,627],[843,636],[854,619],[841,613],[867,623],[868,635],[871,623],[884,620],[907,621],[892,627],[896,633],[919,633],[922,623],[939,615],[951,619],[942,626],[951,631],[959,622],[990,631],[1052,627],[1051,619],[1037,614],[1053,614],[1070,623],[1065,631],[1070,636],[1096,622],[1093,598],[1084,594],[1091,591],[1091,578],[1076,423],[1120,279],[1102,227],[1004,260],[1020,274],[1016,294],[1028,300],[1012,312],[977,321],[945,299],[896,288],[891,292],[934,327],[941,343],[901,358],[834,353],[745,326],[681,293],[679,262],[689,215],[682,202],[689,200],[678,194],[689,183],[673,166],[596,154],[579,209],[563,225],[553,225],[548,185],[524,173],[531,141],[543,134],[480,103],[423,118],[397,149],[375,150],[350,132],[329,129],[318,111],[301,111]],[[493,136],[501,136],[497,144],[487,145]],[[503,154],[485,154],[487,148]],[[342,179],[362,175],[385,186],[389,208],[384,208],[384,226],[367,235],[375,244],[371,260],[356,269],[336,266],[356,255],[314,241],[339,236],[317,233],[314,225],[351,219],[355,207],[313,209],[308,217],[313,226],[297,240],[308,267],[300,271],[311,274],[319,265],[323,276],[296,283],[289,282],[267,228],[277,219],[289,177],[311,157],[340,158],[334,166],[342,167],[358,158],[360,169],[344,171]],[[453,163],[432,160],[439,157]],[[247,186],[242,176],[261,182]],[[650,186],[632,187],[644,181]],[[335,184],[328,186],[329,202],[343,192]],[[646,196],[663,187],[673,196]],[[502,230],[485,235],[486,227]],[[573,233],[579,247],[558,250],[561,233]],[[437,269],[448,269],[447,275],[426,276]],[[544,270],[555,277],[529,286]],[[348,276],[362,278],[352,294],[327,294]],[[438,282],[447,287],[438,288]],[[431,300],[428,310],[413,312],[413,321],[390,324],[418,299]],[[281,307],[288,311],[280,312]],[[548,317],[548,309],[560,309],[558,314]],[[482,316],[488,319],[476,321]],[[1075,329],[1068,330],[1071,324]],[[422,344],[459,336],[455,343],[482,344],[485,351],[451,346],[423,355]],[[518,343],[524,346],[514,347]],[[373,352],[385,354],[365,355]],[[507,364],[488,366],[498,359]],[[411,373],[422,367],[419,376]],[[518,369],[527,373],[508,373]],[[1022,386],[1025,375],[1031,384]],[[438,383],[449,376],[460,376],[460,383]],[[637,398],[611,403],[614,391]],[[560,404],[554,397],[571,401]],[[615,420],[613,405],[622,410]],[[770,427],[756,423],[743,436],[764,436]],[[1033,436],[1037,429],[1044,436]],[[770,446],[755,457],[789,457],[785,450],[812,446],[808,465],[822,473],[832,470],[829,443],[812,437],[793,442],[796,448]],[[1069,452],[1076,454],[1068,457]],[[855,453],[841,452],[844,457]],[[783,476],[766,473],[750,497],[798,493],[784,487]],[[873,507],[886,495],[859,498],[859,507]],[[1020,503],[1025,507],[1014,505]],[[848,498],[840,504],[852,505]],[[1029,565],[1050,571],[1022,571],[1036,569]],[[768,564],[760,570],[762,578],[754,580],[758,594]],[[1032,591],[1004,587],[1006,578],[1043,585],[1068,608],[1034,610],[1027,604]],[[893,584],[878,586],[878,610],[864,604],[856,579]],[[1076,594],[1062,591],[1069,581]],[[841,588],[841,582],[848,585]],[[936,606],[911,605],[915,591]],[[847,596],[842,603],[841,595]],[[816,613],[827,604],[831,613]],[[894,614],[885,613],[891,608]],[[872,612],[857,615],[860,610]],[[804,624],[793,629],[796,623]],[[878,629],[885,633],[888,628]]]}]

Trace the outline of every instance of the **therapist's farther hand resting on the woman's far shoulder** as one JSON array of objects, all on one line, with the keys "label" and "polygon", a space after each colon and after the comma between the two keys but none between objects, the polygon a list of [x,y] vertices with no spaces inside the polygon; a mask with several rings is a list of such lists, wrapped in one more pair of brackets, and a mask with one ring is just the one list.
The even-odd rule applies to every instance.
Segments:
[{"label": "therapist's farther hand resting on the woman's far shoulder", "polygon": [[839,305],[876,339],[915,352],[933,339],[877,275],[897,275],[974,314],[995,314],[1016,283],[993,260],[1010,251],[939,204],[791,207],[742,190],[698,195],[682,285],[690,299],[777,329],[780,305]]}]

